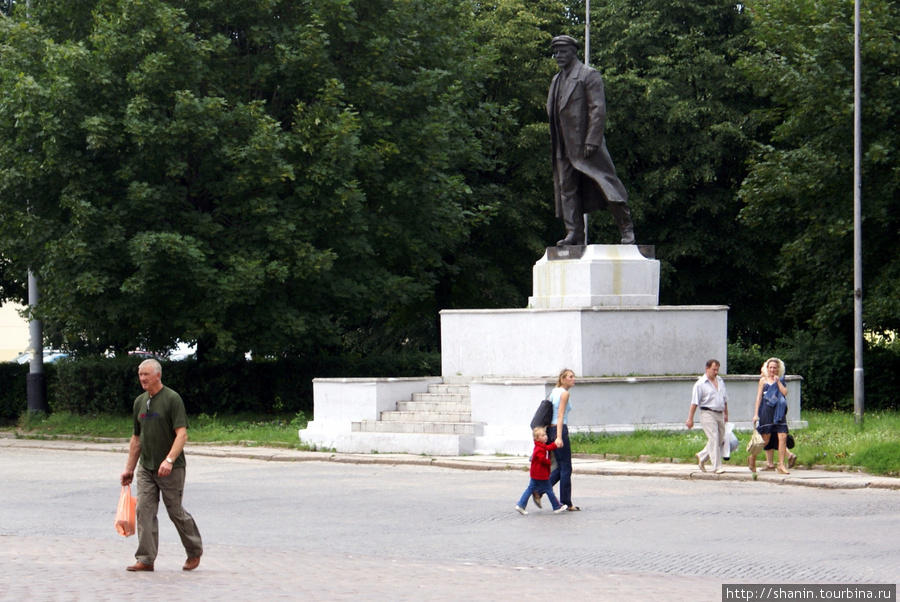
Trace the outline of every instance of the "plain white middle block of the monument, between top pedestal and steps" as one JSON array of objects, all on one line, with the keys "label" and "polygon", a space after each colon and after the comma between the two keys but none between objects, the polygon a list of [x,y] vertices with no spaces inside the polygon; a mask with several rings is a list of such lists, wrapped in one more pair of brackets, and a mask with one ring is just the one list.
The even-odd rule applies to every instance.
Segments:
[{"label": "plain white middle block of the monument, between top pedestal and steps", "polygon": [[590,307],[441,312],[445,377],[697,374],[727,371],[728,307]]}]

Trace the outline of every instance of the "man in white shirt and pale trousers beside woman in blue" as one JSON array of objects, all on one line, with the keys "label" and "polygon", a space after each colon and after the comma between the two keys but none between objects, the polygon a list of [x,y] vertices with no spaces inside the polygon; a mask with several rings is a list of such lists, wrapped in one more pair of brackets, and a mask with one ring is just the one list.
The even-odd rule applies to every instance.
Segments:
[{"label": "man in white shirt and pale trousers beside woman in blue", "polygon": [[725,441],[725,423],[728,422],[728,392],[725,381],[719,376],[719,361],[706,362],[706,373],[694,383],[691,392],[691,409],[685,425],[694,428],[694,412],[700,408],[700,426],[706,433],[706,447],[696,454],[697,465],[706,472],[705,457],[712,461],[716,474],[722,474],[722,443]]}]

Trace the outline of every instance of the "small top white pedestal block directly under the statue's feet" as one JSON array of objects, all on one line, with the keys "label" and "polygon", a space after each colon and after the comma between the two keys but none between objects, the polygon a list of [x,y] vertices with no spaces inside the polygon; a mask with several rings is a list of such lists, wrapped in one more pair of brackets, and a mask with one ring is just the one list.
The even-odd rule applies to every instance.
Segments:
[{"label": "small top white pedestal block directly under the statue's feet", "polygon": [[530,308],[659,305],[659,261],[636,245],[551,247],[533,273]]}]

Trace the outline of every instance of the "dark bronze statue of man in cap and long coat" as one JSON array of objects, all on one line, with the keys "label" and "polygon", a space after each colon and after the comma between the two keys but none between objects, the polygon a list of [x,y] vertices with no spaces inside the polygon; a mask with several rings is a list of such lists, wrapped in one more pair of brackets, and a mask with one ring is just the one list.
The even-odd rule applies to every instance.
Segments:
[{"label": "dark bronze statue of man in cap and long coat", "polygon": [[603,78],[578,60],[575,38],[556,36],[550,46],[559,65],[547,97],[553,189],[556,217],[566,225],[566,237],[556,244],[583,245],[584,214],[604,207],[619,226],[621,244],[634,244],[628,192],[606,149]]}]

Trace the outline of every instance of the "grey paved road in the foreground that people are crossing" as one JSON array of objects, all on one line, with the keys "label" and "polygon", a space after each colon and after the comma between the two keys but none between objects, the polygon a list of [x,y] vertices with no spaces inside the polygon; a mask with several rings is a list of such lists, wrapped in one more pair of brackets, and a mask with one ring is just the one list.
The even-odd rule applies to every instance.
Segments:
[{"label": "grey paved road in the foreground that people are crossing", "polygon": [[900,492],[576,475],[583,511],[513,506],[519,471],[189,456],[200,568],[115,533],[124,454],[0,449],[0,599],[720,600],[723,583],[897,583]]}]

